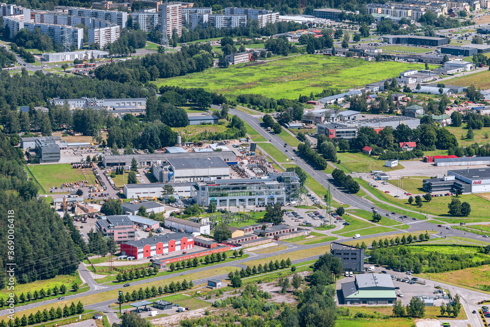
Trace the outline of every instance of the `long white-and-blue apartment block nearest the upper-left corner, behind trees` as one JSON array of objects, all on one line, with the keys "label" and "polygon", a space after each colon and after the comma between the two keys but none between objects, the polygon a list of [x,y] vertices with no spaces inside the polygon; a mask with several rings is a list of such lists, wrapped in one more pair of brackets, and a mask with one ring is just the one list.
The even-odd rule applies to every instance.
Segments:
[{"label": "long white-and-blue apartment block nearest the upper-left corner, behind trees", "polygon": [[42,34],[48,34],[48,36],[53,40],[53,43],[56,44],[63,44],[62,35],[65,33],[65,31],[68,31],[71,44],[74,45],[76,49],[83,48],[83,28],[46,23],[24,22],[20,19],[8,16],[3,17],[3,28],[5,28],[5,26],[8,26],[10,29],[10,39],[15,33],[23,28],[28,28],[31,32],[34,32],[35,28],[39,28]]}]

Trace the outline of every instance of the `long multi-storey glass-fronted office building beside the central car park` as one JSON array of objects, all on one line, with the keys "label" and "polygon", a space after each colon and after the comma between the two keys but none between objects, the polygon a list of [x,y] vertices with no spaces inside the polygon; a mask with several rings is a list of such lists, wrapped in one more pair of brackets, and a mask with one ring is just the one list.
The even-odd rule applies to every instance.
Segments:
[{"label": "long multi-storey glass-fronted office building beside the central car park", "polygon": [[191,196],[198,205],[267,205],[296,201],[299,178],[294,172],[273,173],[266,178],[235,178],[196,182]]}]

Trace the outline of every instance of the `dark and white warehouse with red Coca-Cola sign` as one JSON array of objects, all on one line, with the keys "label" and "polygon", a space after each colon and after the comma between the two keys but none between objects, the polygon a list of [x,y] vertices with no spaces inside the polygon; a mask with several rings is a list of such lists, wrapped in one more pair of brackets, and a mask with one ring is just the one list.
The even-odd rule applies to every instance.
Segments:
[{"label": "dark and white warehouse with red Coca-Cola sign", "polygon": [[422,187],[427,192],[490,192],[490,168],[448,170],[442,178],[424,179]]}]

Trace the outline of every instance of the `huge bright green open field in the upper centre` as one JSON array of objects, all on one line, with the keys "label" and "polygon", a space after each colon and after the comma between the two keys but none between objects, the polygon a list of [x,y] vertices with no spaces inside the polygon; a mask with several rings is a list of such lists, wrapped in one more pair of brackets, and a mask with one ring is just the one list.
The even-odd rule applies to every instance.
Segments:
[{"label": "huge bright green open field in the upper centre", "polygon": [[297,99],[299,94],[319,93],[327,87],[349,89],[364,86],[420,67],[419,64],[393,61],[375,63],[335,56],[300,55],[249,67],[212,68],[159,80],[156,85],[202,87],[228,96],[255,93],[275,99]]}]

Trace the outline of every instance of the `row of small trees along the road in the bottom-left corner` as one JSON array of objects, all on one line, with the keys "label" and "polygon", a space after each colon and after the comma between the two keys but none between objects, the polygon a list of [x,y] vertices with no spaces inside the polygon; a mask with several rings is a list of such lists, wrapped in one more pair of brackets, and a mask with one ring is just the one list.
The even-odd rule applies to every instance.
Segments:
[{"label": "row of small trees along the road in the bottom-left corner", "polygon": [[[59,306],[56,309],[54,307],[51,307],[49,310],[48,309],[44,309],[43,311],[38,310],[34,314],[31,313],[29,316],[23,315],[22,318],[19,318],[19,316],[17,316],[13,321],[12,320],[8,321],[8,327],[21,327],[21,326],[35,325],[50,320],[73,316],[75,314],[81,314],[83,312],[84,312],[84,308],[82,302],[78,301],[76,305],[75,303],[72,302],[70,306],[65,304],[63,309],[61,309]],[[2,320],[0,322],[0,327],[7,327],[7,323]]]}]

